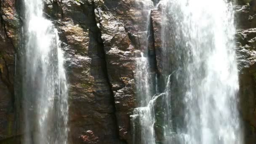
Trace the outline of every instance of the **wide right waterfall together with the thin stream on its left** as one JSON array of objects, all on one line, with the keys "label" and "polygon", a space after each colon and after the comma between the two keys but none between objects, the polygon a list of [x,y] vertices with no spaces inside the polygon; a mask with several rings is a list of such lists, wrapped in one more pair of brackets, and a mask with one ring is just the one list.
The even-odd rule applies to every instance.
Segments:
[{"label": "wide right waterfall together with the thin stream on its left", "polygon": [[[142,15],[150,17],[152,1],[136,2]],[[131,115],[133,144],[243,144],[232,3],[160,0],[158,5],[163,79],[157,81],[164,80],[165,88],[154,96],[147,19],[136,59],[139,107]]]}]

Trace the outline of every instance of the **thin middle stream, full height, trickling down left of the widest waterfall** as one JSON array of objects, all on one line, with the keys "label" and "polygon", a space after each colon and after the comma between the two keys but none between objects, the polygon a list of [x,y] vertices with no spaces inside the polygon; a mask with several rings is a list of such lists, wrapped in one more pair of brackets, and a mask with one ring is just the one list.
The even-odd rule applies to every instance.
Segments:
[{"label": "thin middle stream, full height, trickling down left of the widest waterfall", "polygon": [[[151,0],[136,0],[136,5],[141,9],[140,15],[146,19],[138,32],[140,37],[141,57],[136,58],[136,88],[139,108],[134,109],[131,120],[133,121],[133,144],[155,144],[154,109],[153,109],[153,76],[149,66],[149,28],[150,11],[154,8]],[[135,124],[136,123],[136,124]],[[139,127],[139,128],[138,128]],[[138,131],[140,133],[138,133]]]}]

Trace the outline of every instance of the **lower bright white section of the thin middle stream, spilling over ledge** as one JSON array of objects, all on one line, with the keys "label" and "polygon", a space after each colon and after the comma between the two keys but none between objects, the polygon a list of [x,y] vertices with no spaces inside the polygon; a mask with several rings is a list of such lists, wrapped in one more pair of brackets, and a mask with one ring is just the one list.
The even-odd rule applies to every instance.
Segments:
[{"label": "lower bright white section of the thin middle stream, spilling over ledge", "polygon": [[[131,115],[134,121],[139,121],[141,141],[135,141],[136,137],[133,137],[133,144],[155,144],[155,131],[153,128],[154,124],[154,112],[152,104],[152,93],[150,88],[152,88],[151,77],[149,73],[149,63],[147,57],[141,54],[141,58],[137,58],[137,75],[136,75],[136,85],[138,89],[139,108],[134,109],[133,115]],[[134,125],[134,127],[136,127]],[[133,131],[136,135],[136,131]]]}]

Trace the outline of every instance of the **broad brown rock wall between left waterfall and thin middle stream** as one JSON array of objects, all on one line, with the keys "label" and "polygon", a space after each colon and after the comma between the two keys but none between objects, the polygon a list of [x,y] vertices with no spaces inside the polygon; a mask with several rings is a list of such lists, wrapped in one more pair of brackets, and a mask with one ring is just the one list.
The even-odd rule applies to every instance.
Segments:
[{"label": "broad brown rock wall between left waterfall and thin middle stream", "polygon": [[46,3],[45,11],[54,20],[67,53],[72,143],[131,141],[136,49],[120,18],[132,17],[128,14],[132,4],[121,0]]}]

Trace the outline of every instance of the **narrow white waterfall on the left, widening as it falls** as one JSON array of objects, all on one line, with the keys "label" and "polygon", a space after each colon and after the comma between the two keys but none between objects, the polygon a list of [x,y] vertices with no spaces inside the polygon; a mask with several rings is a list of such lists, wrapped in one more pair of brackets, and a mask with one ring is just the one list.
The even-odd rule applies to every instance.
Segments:
[{"label": "narrow white waterfall on the left, widening as it falls", "polygon": [[67,144],[68,85],[58,32],[43,16],[43,0],[24,0],[24,6],[23,143]]}]

